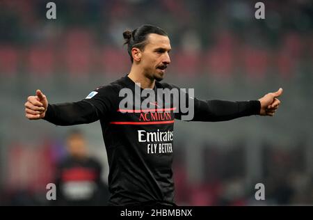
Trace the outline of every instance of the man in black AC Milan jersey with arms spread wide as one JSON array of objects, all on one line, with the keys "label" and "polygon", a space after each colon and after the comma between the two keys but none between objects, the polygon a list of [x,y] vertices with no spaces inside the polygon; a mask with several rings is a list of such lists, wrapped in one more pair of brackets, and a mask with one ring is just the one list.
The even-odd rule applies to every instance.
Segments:
[{"label": "man in black AC Milan jersey with arms spread wide", "polygon": [[[170,64],[170,40],[157,26],[143,25],[123,33],[131,58],[127,76],[97,88],[80,102],[48,104],[40,91],[25,103],[26,118],[44,119],[55,125],[77,125],[100,120],[109,160],[109,205],[175,205],[172,180],[172,139],[174,119],[181,119],[180,102],[136,104],[136,91],[172,90],[161,84]],[[121,108],[124,89],[135,93],[131,104]],[[273,116],[280,105],[282,89],[259,100],[229,102],[202,101],[186,95],[193,121],[231,120],[243,116]],[[158,95],[157,95],[158,96]],[[158,96],[159,97],[159,96]],[[141,103],[145,102],[142,96]]]}]

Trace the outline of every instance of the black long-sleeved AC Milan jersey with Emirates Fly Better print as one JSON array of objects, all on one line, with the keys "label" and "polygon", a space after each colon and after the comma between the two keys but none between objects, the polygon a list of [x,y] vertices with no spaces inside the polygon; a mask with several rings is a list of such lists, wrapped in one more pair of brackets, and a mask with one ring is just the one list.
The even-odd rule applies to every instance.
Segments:
[{"label": "black long-sleeved AC Milan jersey with Emirates Fly Better print", "polygon": [[[121,108],[123,88],[135,93],[137,84],[129,77],[97,88],[80,102],[49,104],[45,120],[55,125],[77,125],[100,120],[109,161],[110,205],[175,205],[172,178],[173,128],[182,111],[172,100],[150,103],[149,109]],[[140,87],[139,87],[140,88]],[[156,82],[160,88],[177,88]],[[141,89],[141,88],[140,88]],[[142,91],[142,89],[141,89]],[[181,97],[179,97],[180,99]],[[230,102],[198,100],[191,120],[221,121],[259,114],[257,100]],[[144,102],[143,97],[139,97]],[[180,101],[179,101],[180,102]]]}]

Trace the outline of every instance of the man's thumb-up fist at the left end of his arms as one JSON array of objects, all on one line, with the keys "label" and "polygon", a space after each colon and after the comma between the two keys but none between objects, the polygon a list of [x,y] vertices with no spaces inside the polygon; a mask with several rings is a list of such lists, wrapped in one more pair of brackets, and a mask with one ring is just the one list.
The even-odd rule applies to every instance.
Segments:
[{"label": "man's thumb-up fist at the left end of his arms", "polygon": [[25,116],[30,120],[44,118],[47,107],[47,97],[38,89],[36,95],[29,96],[25,102]]}]

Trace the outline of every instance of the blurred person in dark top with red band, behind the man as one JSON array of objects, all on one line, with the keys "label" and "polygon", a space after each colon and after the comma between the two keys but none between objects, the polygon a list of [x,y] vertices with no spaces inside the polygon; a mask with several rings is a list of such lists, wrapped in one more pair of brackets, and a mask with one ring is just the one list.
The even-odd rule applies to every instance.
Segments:
[{"label": "blurred person in dark top with red band, behind the man", "polygon": [[102,165],[88,155],[86,139],[75,129],[66,139],[67,156],[56,170],[56,201],[52,205],[106,205],[109,190]]}]

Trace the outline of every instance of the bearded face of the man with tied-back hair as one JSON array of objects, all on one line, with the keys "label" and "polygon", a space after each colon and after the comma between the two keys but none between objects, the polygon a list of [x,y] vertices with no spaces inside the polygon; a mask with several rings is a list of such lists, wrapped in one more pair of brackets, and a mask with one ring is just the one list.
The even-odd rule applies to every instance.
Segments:
[{"label": "bearded face of the man with tied-back hair", "polygon": [[141,51],[140,65],[145,77],[161,81],[167,66],[170,64],[170,39],[156,33],[150,33],[147,37],[147,45]]}]

